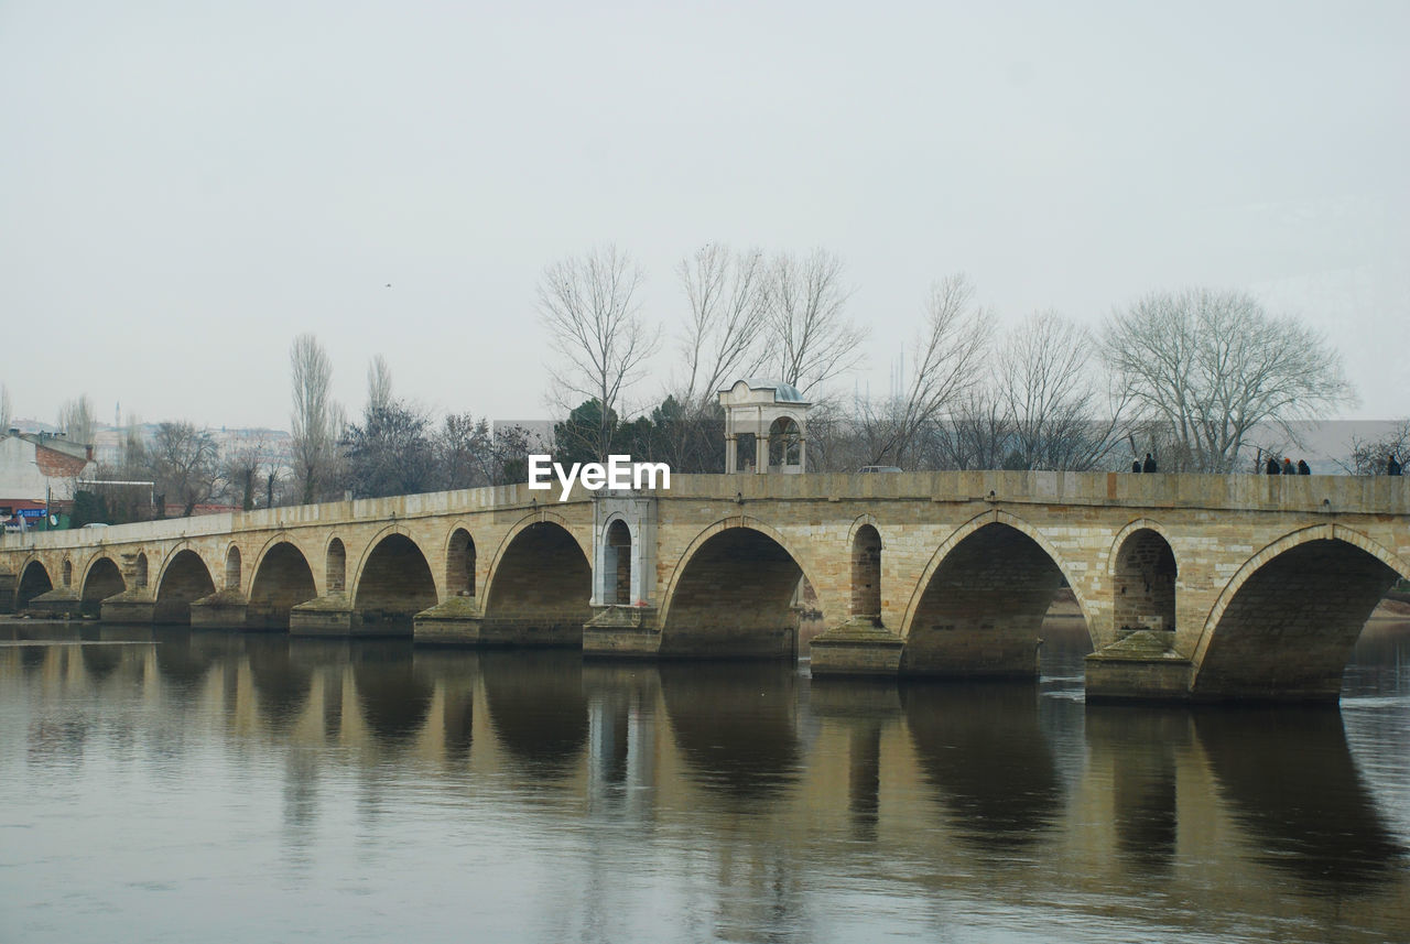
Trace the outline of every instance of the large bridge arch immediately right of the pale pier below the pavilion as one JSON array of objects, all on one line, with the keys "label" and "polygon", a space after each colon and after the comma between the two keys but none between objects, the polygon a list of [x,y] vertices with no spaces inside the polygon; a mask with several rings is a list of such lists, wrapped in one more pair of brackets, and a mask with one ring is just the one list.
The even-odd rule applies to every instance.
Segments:
[{"label": "large bridge arch immediately right of the pale pier below the pavilion", "polygon": [[691,541],[667,583],[660,654],[795,654],[797,597],[815,569],[783,534],[757,518],[736,516],[711,524]]}]

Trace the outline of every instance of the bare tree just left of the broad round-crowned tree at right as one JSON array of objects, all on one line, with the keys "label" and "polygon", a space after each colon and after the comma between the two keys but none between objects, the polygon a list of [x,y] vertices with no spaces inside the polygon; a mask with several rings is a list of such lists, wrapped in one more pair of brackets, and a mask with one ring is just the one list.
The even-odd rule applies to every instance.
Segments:
[{"label": "bare tree just left of the broad round-crowned tree at right", "polygon": [[1086,328],[1056,311],[1029,317],[1000,348],[1000,402],[1025,469],[1097,468],[1127,438],[1129,396],[1094,349]]}]

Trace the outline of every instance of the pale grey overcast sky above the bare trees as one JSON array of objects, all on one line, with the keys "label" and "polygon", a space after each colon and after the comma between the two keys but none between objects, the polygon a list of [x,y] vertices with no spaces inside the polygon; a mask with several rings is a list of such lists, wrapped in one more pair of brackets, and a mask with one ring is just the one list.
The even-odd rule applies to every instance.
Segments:
[{"label": "pale grey overcast sky above the bare trees", "polygon": [[[147,421],[548,416],[546,263],[684,313],[706,242],[846,263],[887,389],[933,279],[1097,325],[1248,289],[1410,414],[1410,3],[0,0],[0,382]],[[391,283],[392,287],[386,287]],[[670,345],[634,390],[656,397]]]}]

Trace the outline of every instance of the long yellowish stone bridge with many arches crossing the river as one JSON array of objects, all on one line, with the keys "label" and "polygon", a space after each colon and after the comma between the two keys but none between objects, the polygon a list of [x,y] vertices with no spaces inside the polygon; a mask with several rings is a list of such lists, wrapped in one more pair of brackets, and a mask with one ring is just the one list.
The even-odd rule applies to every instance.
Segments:
[{"label": "long yellowish stone bridge with many arches crossing the river", "polygon": [[[1070,588],[1089,697],[1335,699],[1410,579],[1404,479],[678,475],[8,534],[0,600],[106,621],[1034,676]],[[804,590],[808,590],[805,595]]]}]

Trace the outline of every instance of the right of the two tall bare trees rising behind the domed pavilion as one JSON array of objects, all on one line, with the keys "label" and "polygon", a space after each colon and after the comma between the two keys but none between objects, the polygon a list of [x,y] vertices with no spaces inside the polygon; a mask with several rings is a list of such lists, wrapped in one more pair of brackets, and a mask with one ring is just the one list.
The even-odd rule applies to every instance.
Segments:
[{"label": "right of the two tall bare trees rising behind the domed pavilion", "polygon": [[842,259],[816,249],[805,259],[780,254],[770,279],[770,364],[804,395],[863,359],[866,328],[846,316],[850,290]]}]

